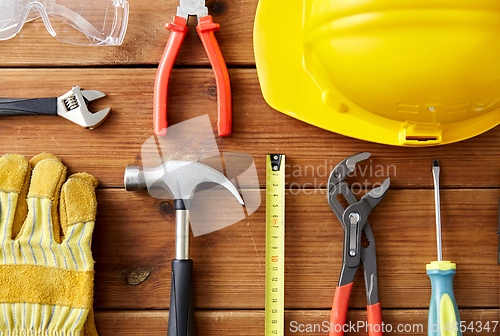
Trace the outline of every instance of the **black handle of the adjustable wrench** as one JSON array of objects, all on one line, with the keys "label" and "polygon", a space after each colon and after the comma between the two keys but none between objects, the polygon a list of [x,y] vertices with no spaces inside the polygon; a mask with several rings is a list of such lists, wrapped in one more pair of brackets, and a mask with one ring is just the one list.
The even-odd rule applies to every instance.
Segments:
[{"label": "black handle of the adjustable wrench", "polygon": [[0,117],[33,115],[57,116],[57,97],[0,98]]}]

